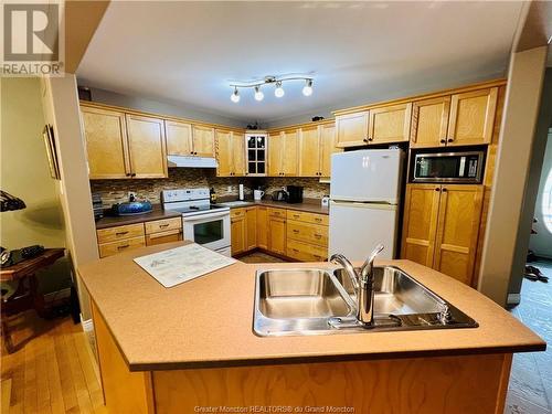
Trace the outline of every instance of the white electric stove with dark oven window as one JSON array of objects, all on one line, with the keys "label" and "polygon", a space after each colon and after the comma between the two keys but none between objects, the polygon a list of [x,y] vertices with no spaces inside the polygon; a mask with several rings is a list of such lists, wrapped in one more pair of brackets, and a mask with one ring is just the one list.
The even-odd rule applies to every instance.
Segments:
[{"label": "white electric stove with dark oven window", "polygon": [[163,209],[182,214],[184,240],[231,256],[230,208],[210,198],[208,188],[161,191]]}]

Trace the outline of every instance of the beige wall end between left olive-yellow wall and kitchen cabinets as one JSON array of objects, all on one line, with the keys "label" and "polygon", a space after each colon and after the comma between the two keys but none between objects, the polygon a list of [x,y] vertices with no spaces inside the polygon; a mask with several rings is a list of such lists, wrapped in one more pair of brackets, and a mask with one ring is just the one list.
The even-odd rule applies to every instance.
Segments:
[{"label": "beige wall end between left olive-yellow wall and kitchen cabinets", "polygon": [[[44,116],[55,130],[67,250],[73,266],[78,268],[81,264],[97,259],[98,251],[75,76],[44,78],[42,104]],[[76,285],[81,316],[89,320],[88,294],[78,277]]]}]

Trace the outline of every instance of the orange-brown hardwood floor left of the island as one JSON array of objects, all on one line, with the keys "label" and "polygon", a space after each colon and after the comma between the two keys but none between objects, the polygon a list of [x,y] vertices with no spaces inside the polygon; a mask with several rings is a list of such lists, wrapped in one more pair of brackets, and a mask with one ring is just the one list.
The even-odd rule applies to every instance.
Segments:
[{"label": "orange-brown hardwood floor left of the island", "polygon": [[10,414],[106,413],[96,360],[81,325],[71,318],[42,320],[29,311],[10,326],[14,343],[24,343],[11,354],[2,349],[2,386],[11,380]]}]

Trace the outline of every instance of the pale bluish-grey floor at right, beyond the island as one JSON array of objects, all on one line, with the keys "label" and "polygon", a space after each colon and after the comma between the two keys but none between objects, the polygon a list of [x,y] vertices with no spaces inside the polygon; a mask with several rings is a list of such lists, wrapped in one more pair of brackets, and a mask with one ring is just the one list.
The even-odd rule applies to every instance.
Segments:
[{"label": "pale bluish-grey floor at right, beyond the island", "polygon": [[521,304],[512,314],[548,343],[545,352],[513,355],[505,414],[552,413],[552,262],[534,262],[548,284],[523,279]]}]

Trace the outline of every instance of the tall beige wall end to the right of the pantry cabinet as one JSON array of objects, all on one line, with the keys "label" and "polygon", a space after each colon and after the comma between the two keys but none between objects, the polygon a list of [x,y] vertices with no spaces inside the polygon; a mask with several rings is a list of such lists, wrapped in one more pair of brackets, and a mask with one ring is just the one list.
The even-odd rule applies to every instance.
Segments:
[{"label": "tall beige wall end to the right of the pantry cabinet", "polygon": [[546,46],[512,53],[510,61],[478,286],[502,306],[507,304],[512,275],[523,272],[516,255],[518,236],[529,238],[529,233],[521,235],[526,230],[520,230],[520,223],[545,61]]}]

